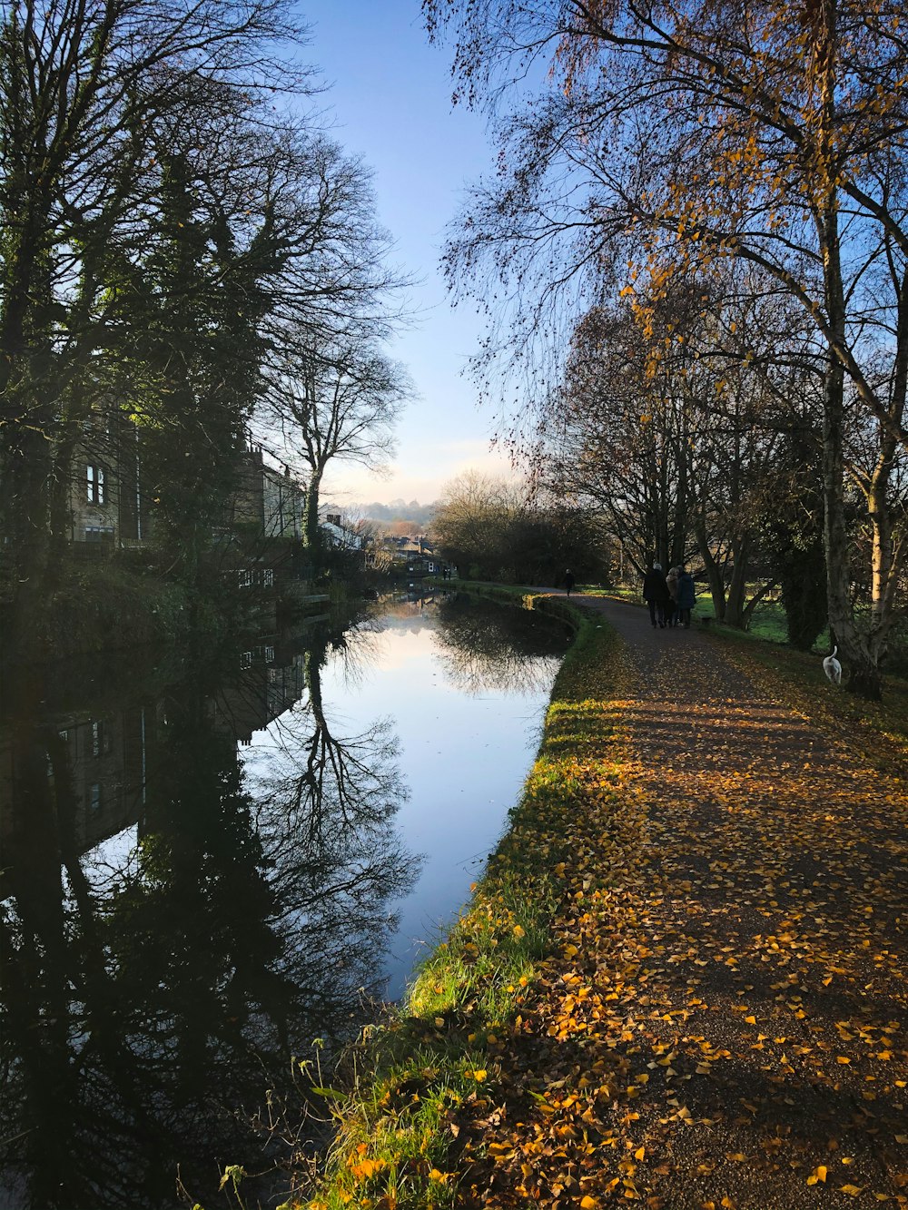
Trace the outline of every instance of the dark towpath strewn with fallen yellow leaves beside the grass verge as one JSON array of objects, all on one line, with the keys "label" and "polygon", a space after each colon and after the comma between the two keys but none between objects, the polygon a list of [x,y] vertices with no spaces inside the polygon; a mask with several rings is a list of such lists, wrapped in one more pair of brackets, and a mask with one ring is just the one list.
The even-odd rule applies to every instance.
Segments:
[{"label": "dark towpath strewn with fallen yellow leaves beside the grass verge", "polygon": [[602,889],[584,846],[611,822],[577,841],[558,952],[469,1125],[472,1204],[908,1206],[904,785],[696,626],[577,603],[625,641],[608,708],[640,825]]}]

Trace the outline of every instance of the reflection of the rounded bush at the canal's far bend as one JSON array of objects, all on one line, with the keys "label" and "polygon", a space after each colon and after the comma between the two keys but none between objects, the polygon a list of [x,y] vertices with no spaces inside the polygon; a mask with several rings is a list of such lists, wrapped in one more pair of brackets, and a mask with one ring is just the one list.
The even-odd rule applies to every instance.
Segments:
[{"label": "reflection of the rounded bush at the canal's far bend", "polygon": [[547,693],[568,644],[565,628],[517,609],[455,597],[438,606],[436,644],[461,692]]}]

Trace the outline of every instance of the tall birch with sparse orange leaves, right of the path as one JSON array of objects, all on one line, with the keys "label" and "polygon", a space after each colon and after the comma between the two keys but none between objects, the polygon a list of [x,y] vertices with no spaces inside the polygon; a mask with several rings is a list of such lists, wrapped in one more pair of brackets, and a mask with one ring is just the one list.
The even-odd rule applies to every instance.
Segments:
[{"label": "tall birch with sparse orange leaves, right of the path", "polygon": [[[557,341],[564,312],[603,282],[637,293],[645,281],[659,295],[673,276],[708,275],[729,258],[771,276],[810,318],[826,362],[829,621],[851,687],[878,696],[906,552],[902,6],[426,0],[425,8],[432,36],[454,31],[459,96],[489,106],[501,144],[499,174],[473,191],[470,224],[447,255],[462,289],[483,293],[495,281],[496,306],[505,300],[489,361],[496,346],[513,356]],[[528,81],[544,68],[548,83],[531,96]],[[862,612],[846,528],[856,432],[869,535]]]}]

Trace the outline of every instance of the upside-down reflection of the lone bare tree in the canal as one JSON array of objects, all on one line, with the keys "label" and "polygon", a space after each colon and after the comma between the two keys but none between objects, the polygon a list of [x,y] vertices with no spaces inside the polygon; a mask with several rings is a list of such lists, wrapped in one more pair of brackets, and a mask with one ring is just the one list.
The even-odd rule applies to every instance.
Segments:
[{"label": "upside-down reflection of the lone bare tree in the canal", "polygon": [[380,993],[384,945],[395,927],[387,912],[379,921],[383,905],[403,895],[419,872],[393,830],[407,789],[390,722],[345,734],[322,695],[329,651],[355,679],[374,641],[374,633],[358,629],[310,646],[305,697],[247,761],[258,831],[274,863],[271,885],[301,939],[295,976],[303,979],[300,963],[316,970],[327,963],[347,995]]}]

